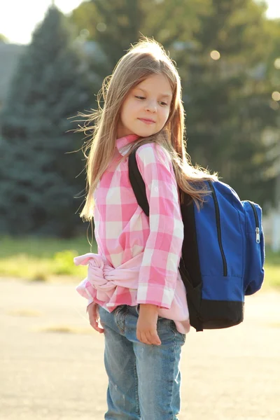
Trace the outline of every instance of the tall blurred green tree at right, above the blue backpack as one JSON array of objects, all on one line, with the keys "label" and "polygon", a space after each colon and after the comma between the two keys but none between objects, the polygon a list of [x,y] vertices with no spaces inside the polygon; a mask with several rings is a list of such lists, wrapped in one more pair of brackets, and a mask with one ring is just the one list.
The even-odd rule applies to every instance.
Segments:
[{"label": "tall blurred green tree at right, above the blue backpack", "polygon": [[251,0],[209,1],[184,80],[193,162],[218,171],[241,199],[260,204],[274,195],[274,145],[264,132],[277,124],[267,66],[272,37],[263,13]]}]

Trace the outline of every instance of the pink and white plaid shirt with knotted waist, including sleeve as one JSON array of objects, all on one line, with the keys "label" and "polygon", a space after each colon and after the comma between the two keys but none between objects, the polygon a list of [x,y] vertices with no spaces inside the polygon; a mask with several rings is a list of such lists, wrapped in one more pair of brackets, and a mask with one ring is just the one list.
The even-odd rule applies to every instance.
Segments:
[{"label": "pink and white plaid shirt with knotted waist, including sleeve", "polygon": [[159,316],[173,319],[179,332],[190,329],[186,289],[178,265],[183,222],[172,160],[164,148],[151,143],[136,153],[146,184],[150,216],[139,207],[128,175],[128,158],[119,162],[131,134],[116,141],[111,165],[94,191],[94,235],[98,254],[74,259],[89,265],[78,292],[113,311],[120,304],[155,304]]}]

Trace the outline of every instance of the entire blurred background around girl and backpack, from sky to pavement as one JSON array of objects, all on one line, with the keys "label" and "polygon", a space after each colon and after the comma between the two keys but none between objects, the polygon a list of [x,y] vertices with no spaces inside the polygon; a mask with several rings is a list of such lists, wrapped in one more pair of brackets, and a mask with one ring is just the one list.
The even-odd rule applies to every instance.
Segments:
[{"label": "entire blurred background around girl and backpack, from sky to pavement", "polygon": [[96,246],[74,130],[141,34],[176,61],[193,164],[262,206],[267,243],[244,323],[187,337],[180,418],[279,420],[279,0],[0,1],[0,418],[104,418],[104,340],[75,290],[73,257]]}]

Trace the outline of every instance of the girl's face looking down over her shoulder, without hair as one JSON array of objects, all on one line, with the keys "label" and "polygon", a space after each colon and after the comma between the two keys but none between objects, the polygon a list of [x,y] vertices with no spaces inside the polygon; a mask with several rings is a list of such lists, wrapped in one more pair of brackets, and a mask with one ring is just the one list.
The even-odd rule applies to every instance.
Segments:
[{"label": "girl's face looking down over her shoulder, without hair", "polygon": [[165,126],[172,88],[162,73],[149,76],[130,90],[120,109],[118,138],[128,134],[149,137]]}]

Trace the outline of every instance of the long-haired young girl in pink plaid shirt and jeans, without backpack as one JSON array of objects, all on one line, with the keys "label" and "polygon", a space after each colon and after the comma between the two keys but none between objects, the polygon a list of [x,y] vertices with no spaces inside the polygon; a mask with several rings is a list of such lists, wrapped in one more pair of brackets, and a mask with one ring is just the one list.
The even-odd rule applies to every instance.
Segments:
[{"label": "long-haired young girl in pink plaid shirt and jeans, without backpack", "polygon": [[[103,85],[103,109],[90,115],[88,191],[81,216],[91,220],[98,254],[78,292],[90,325],[105,336],[107,420],[174,420],[180,409],[181,346],[190,329],[178,266],[183,242],[179,188],[196,204],[214,179],[192,167],[183,140],[179,74],[163,48],[144,38]],[[100,97],[99,97],[100,99]],[[128,174],[136,147],[150,216],[137,204]],[[178,188],[179,186],[179,188]]]}]

